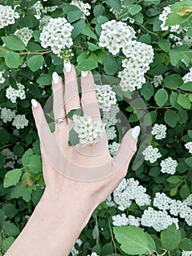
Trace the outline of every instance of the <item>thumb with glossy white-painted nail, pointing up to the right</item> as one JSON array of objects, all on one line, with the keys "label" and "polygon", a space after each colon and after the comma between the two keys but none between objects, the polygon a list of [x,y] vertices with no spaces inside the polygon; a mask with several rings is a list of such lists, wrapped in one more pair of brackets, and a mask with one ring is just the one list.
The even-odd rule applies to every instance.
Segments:
[{"label": "thumb with glossy white-painted nail, pointing up to the right", "polygon": [[118,153],[114,157],[114,165],[120,168],[124,164],[128,167],[131,158],[134,156],[137,151],[137,138],[140,133],[140,127],[134,127],[134,129],[129,129],[124,135],[123,140],[120,143],[120,148],[118,149]]}]

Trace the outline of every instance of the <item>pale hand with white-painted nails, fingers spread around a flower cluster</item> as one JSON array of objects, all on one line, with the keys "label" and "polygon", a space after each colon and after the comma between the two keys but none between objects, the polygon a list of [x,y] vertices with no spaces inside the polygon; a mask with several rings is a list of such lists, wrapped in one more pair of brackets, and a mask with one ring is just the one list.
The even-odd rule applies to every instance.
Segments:
[{"label": "pale hand with white-painted nails, fingers spread around a flower cluster", "polygon": [[[81,76],[81,103],[77,75],[69,63],[65,64],[64,76],[65,89],[61,77],[54,73],[55,119],[66,116],[70,110],[82,108],[83,114],[92,116],[94,121],[101,121],[91,72]],[[36,107],[32,109],[42,151],[45,191],[53,197],[62,197],[63,193],[67,193],[70,198],[78,198],[79,204],[86,201],[96,208],[126,176],[129,162],[137,150],[139,127],[128,130],[118,154],[112,158],[106,134],[96,146],[69,146],[69,130],[73,122],[65,118],[61,124],[55,124],[55,132],[51,133],[41,105],[37,102],[33,105]]]}]

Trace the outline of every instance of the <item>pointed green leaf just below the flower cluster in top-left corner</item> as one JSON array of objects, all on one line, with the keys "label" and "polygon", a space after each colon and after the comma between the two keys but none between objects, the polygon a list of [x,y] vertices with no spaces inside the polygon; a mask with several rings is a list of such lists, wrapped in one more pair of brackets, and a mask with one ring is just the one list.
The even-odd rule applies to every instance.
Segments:
[{"label": "pointed green leaf just below the flower cluster in top-left corner", "polygon": [[23,41],[15,36],[15,34],[11,34],[7,37],[1,37],[6,46],[12,50],[25,50],[26,45],[24,45]]}]

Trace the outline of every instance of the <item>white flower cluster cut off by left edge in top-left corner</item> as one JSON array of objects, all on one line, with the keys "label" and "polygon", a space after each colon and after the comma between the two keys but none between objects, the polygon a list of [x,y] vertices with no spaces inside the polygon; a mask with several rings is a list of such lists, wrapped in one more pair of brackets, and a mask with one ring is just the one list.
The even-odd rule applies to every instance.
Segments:
[{"label": "white flower cluster cut off by left edge in top-left corner", "polygon": [[9,24],[14,24],[15,19],[18,19],[19,17],[18,12],[15,12],[12,7],[0,4],[0,29]]}]

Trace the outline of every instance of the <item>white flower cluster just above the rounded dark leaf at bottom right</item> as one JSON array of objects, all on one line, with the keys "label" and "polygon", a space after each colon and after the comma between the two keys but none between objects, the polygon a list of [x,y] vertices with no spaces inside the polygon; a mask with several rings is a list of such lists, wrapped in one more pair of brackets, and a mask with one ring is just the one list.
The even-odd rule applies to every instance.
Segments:
[{"label": "white flower cluster just above the rounded dark leaf at bottom right", "polygon": [[153,227],[156,231],[166,229],[174,223],[178,228],[178,219],[172,218],[166,211],[156,211],[152,207],[147,208],[141,217],[141,224],[145,227]]}]

